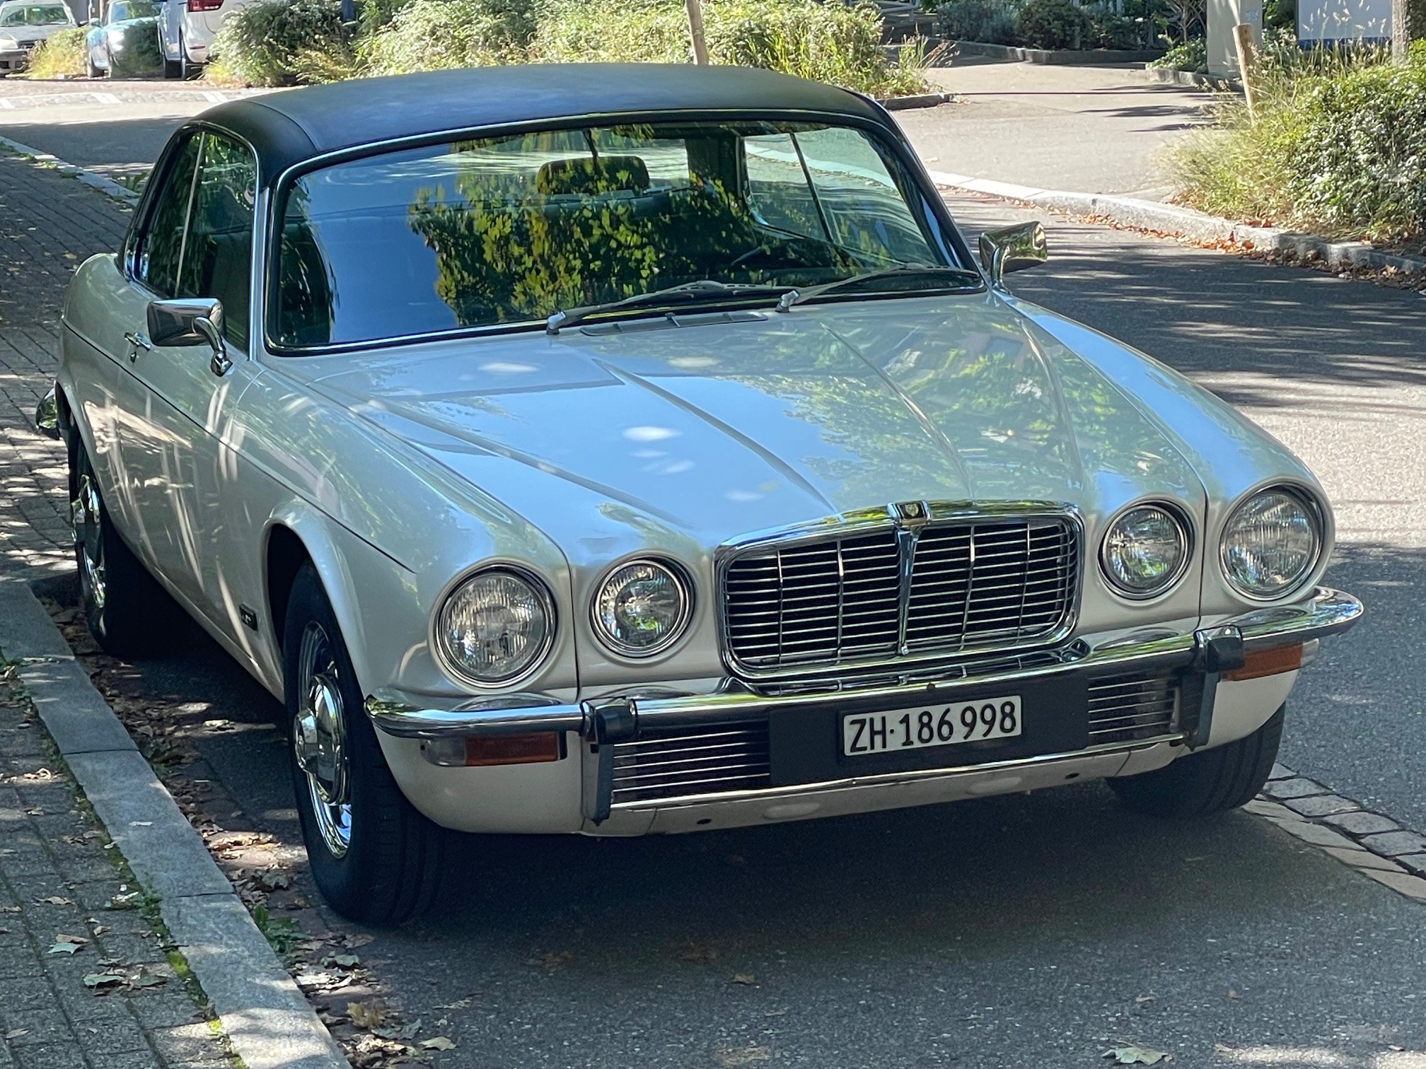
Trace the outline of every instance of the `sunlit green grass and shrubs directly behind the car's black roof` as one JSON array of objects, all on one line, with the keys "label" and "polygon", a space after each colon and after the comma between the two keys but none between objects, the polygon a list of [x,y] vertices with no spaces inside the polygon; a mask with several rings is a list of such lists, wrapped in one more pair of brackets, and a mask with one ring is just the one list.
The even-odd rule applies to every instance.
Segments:
[{"label": "sunlit green grass and shrubs directly behind the car's black roof", "polygon": [[[366,0],[354,40],[337,0],[262,0],[228,20],[218,61],[251,84],[338,81],[503,63],[690,63],[682,0]],[[888,56],[871,4],[704,0],[714,63],[876,97],[925,91],[923,43]]]}]

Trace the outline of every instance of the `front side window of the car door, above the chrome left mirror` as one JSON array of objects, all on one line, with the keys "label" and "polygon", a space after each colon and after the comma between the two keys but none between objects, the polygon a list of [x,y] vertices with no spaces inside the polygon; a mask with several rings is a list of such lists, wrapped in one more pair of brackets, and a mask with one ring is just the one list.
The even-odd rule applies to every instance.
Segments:
[{"label": "front side window of the car door, above the chrome left mirror", "polygon": [[248,150],[225,137],[204,134],[177,295],[222,301],[224,334],[244,351],[255,191],[257,168]]}]

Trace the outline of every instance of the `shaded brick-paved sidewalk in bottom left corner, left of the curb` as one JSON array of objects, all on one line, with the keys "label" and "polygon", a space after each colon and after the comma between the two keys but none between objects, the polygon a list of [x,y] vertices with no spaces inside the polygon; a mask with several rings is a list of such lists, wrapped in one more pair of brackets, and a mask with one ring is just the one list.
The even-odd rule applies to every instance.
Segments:
[{"label": "shaded brick-paved sidewalk in bottom left corner, left of the curb", "polygon": [[0,674],[0,1069],[230,1065],[107,842]]}]

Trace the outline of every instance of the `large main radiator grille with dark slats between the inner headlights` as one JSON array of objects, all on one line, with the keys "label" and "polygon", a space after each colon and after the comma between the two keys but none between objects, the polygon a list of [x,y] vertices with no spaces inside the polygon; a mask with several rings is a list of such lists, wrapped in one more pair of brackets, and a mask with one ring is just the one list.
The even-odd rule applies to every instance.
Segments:
[{"label": "large main radiator grille with dark slats between the inner headlights", "polygon": [[753,673],[1017,649],[1055,637],[1078,572],[1064,517],[773,543],[727,566],[724,633]]}]

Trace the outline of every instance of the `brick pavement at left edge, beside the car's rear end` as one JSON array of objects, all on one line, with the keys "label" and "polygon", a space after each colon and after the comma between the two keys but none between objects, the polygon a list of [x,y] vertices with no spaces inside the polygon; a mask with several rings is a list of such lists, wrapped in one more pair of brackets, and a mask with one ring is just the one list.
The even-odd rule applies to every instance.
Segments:
[{"label": "brick pavement at left edge, beside the car's rear end", "polygon": [[64,450],[36,433],[70,277],[117,249],[128,210],[74,178],[0,150],[0,573],[71,567]]}]

